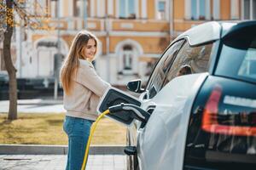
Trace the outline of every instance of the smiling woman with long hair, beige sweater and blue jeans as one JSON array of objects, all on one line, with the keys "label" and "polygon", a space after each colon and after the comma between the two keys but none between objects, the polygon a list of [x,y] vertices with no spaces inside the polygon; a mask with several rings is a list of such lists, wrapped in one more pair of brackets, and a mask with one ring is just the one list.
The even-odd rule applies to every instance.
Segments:
[{"label": "smiling woman with long hair, beige sweater and blue jeans", "polygon": [[68,137],[66,169],[81,169],[90,126],[97,118],[96,106],[110,86],[97,74],[91,61],[95,59],[97,40],[88,31],[74,37],[69,54],[61,67],[66,112],[63,129]]}]

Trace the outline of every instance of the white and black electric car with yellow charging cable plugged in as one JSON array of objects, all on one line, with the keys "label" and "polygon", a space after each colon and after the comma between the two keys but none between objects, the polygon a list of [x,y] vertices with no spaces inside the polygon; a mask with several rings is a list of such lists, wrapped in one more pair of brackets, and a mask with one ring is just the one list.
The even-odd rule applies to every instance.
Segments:
[{"label": "white and black electric car with yellow charging cable plugged in", "polygon": [[128,169],[256,169],[255,20],[183,32],[141,84],[127,84],[139,99],[112,89],[99,110],[129,127]]}]

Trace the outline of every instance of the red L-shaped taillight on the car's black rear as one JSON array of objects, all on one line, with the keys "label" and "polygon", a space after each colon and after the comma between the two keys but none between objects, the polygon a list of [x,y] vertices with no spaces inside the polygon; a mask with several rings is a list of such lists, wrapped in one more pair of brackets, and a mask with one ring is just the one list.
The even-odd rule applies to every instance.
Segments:
[{"label": "red L-shaped taillight on the car's black rear", "polygon": [[[207,99],[205,109],[203,111],[201,128],[209,133],[220,133],[227,135],[236,135],[236,136],[256,136],[256,112],[247,112],[246,109],[242,111],[242,108],[233,109],[233,111],[224,110],[219,111],[219,105],[224,104],[221,100],[222,97],[222,88],[221,86],[216,86],[213,88],[212,93]],[[240,97],[233,97],[237,102],[242,102]],[[243,99],[246,100],[245,98]],[[236,107],[241,107],[241,103],[233,104]],[[253,106],[248,105],[248,106]],[[228,107],[228,106],[227,106]],[[240,111],[239,111],[240,110]]]}]

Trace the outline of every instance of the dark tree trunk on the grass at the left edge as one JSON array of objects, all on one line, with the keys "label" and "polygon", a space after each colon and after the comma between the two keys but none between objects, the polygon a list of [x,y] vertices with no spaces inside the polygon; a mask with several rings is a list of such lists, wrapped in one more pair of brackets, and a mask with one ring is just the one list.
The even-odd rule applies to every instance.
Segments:
[{"label": "dark tree trunk on the grass at the left edge", "polygon": [[7,29],[4,32],[3,39],[3,58],[6,70],[9,75],[9,120],[17,119],[17,80],[16,80],[16,69],[11,59],[11,38],[13,35],[14,27],[14,1],[7,0],[6,8],[10,9],[6,12],[6,24]]}]

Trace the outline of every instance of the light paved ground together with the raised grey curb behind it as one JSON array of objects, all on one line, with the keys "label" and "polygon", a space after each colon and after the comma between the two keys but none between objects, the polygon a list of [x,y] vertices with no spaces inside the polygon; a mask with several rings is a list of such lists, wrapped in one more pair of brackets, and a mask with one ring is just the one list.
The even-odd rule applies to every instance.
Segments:
[{"label": "light paved ground together with the raised grey curb behind it", "polygon": [[[124,146],[91,146],[86,170],[126,170]],[[66,145],[0,144],[0,170],[61,170]]]}]

